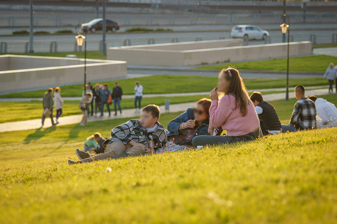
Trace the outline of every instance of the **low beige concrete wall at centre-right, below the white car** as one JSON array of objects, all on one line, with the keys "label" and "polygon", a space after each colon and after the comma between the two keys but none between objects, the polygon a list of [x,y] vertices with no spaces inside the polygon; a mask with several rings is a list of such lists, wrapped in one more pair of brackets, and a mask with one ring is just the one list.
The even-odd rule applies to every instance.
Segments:
[{"label": "low beige concrete wall at centre-right, below the white car", "polygon": [[[129,64],[135,65],[189,66],[287,56],[287,43],[242,45],[241,39],[232,39],[113,47],[108,49],[108,59],[125,60]],[[309,55],[311,49],[310,41],[291,42],[289,44],[289,56]]]}]

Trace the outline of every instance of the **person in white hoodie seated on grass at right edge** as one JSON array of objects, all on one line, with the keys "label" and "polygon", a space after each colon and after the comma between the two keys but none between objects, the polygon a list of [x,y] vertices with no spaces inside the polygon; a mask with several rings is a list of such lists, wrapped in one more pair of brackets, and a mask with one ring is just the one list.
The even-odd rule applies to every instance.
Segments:
[{"label": "person in white hoodie seated on grass at right edge", "polygon": [[309,96],[316,106],[317,128],[337,127],[337,108],[326,99]]}]

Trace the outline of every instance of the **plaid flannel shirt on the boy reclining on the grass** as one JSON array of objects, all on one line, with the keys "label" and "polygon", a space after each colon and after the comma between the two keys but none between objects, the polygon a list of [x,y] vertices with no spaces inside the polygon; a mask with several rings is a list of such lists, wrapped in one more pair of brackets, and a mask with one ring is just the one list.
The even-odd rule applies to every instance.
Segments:
[{"label": "plaid flannel shirt on the boy reclining on the grass", "polygon": [[131,140],[142,143],[145,147],[149,147],[149,141],[153,141],[154,150],[158,150],[162,145],[166,144],[167,136],[165,128],[157,122],[158,128],[154,132],[147,132],[138,120],[130,120],[124,124],[117,126],[111,130],[110,138],[107,139],[103,146],[110,144],[114,141],[122,141],[124,144],[129,143]]}]

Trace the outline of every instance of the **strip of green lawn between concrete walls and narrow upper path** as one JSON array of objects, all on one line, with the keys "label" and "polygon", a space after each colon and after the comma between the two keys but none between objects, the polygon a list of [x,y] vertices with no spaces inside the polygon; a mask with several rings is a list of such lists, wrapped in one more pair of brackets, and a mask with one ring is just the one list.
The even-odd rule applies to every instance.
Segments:
[{"label": "strip of green lawn between concrete walls and narrow upper path", "polygon": [[[217,74],[214,73],[214,75],[216,76]],[[217,85],[218,77],[158,75],[134,79],[122,79],[118,82],[123,88],[124,94],[134,94],[133,89],[135,81],[139,81],[144,87],[144,94],[207,92]],[[93,83],[95,84],[95,82]],[[108,84],[109,88],[112,90],[115,80],[100,83]],[[293,88],[298,84],[302,84],[304,86],[322,86],[327,85],[327,83],[328,81],[323,80],[323,78],[289,79],[290,88]],[[286,79],[245,79],[245,85],[248,89],[280,88],[286,86]],[[56,86],[52,87],[55,88]],[[16,92],[0,95],[0,98],[42,97],[45,92],[46,90]],[[61,86],[62,96],[81,96],[82,92],[83,84]]]}]

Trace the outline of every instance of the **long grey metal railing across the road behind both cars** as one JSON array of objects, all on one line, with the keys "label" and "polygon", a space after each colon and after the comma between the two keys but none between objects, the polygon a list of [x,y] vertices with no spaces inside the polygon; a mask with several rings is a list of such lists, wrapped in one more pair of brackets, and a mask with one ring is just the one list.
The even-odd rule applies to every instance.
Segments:
[{"label": "long grey metal railing across the road behind both cars", "polygon": [[[302,23],[304,17],[302,13],[288,14],[292,24]],[[220,14],[114,14],[111,18],[120,23],[121,26],[152,26],[152,25],[203,25],[203,24],[273,24],[280,23],[281,13],[220,13]],[[33,24],[39,26],[75,26],[86,23],[95,16],[34,16]],[[337,13],[307,13],[305,15],[307,23],[336,23]],[[29,16],[0,16],[0,26],[2,27],[28,27]]]}]

